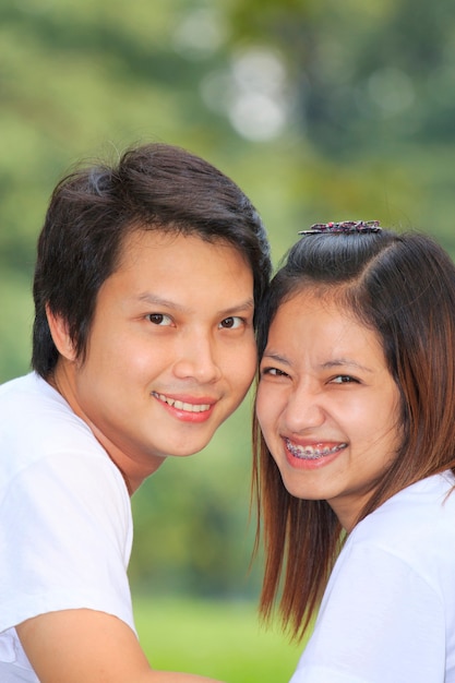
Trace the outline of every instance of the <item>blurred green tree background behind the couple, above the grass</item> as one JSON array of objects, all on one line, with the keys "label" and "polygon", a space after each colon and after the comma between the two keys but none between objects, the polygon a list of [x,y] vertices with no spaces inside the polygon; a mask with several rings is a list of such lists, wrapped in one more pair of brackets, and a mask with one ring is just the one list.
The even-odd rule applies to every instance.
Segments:
[{"label": "blurred green tree background behind the couple, above the grass", "polygon": [[[35,242],[53,185],[76,160],[132,143],[178,144],[231,176],[275,263],[299,229],[350,218],[422,229],[455,254],[455,5],[2,0],[0,135],[5,381],[28,370]],[[131,580],[139,604],[161,606],[155,627],[166,596],[219,610],[256,600],[250,411],[251,397],[204,453],[169,460],[134,498]],[[251,658],[270,650],[253,642]]]}]

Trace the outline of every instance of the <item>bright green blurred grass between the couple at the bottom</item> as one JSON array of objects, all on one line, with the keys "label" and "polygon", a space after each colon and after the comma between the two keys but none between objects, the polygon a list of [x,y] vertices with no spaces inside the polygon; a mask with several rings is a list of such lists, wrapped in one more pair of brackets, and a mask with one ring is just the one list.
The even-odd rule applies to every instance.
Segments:
[{"label": "bright green blurred grass between the couple at the bottom", "polygon": [[287,683],[303,647],[278,626],[261,626],[254,603],[143,595],[133,595],[133,603],[142,647],[156,669],[227,683]]}]

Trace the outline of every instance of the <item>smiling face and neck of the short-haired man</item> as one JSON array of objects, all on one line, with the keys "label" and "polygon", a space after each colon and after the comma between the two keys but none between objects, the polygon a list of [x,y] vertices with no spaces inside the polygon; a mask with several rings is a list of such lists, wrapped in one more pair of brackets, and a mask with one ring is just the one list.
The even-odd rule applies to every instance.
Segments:
[{"label": "smiling face and neck of the short-haired man", "polygon": [[224,242],[136,231],[101,286],[84,362],[55,384],[130,490],[168,455],[203,448],[254,375],[253,276]]}]

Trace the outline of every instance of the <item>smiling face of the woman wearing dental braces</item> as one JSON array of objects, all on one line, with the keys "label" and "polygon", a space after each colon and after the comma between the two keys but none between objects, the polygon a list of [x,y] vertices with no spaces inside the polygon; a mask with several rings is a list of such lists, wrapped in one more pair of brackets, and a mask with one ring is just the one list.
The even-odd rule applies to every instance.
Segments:
[{"label": "smiling face of the woman wearing dental braces", "polygon": [[379,336],[328,296],[301,291],[278,309],[256,409],[289,493],[326,500],[349,531],[396,457],[399,392]]}]

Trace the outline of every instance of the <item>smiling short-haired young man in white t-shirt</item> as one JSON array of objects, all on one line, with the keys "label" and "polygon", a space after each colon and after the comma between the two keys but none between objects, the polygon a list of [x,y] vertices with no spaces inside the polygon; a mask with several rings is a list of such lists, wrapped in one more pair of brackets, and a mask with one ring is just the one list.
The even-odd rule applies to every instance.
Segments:
[{"label": "smiling short-haired young man in white t-shirt", "polygon": [[262,223],[204,160],[127,152],[55,190],[34,372],[0,388],[0,680],[190,683],[152,670],[127,566],[130,495],[203,448],[255,372]]}]

